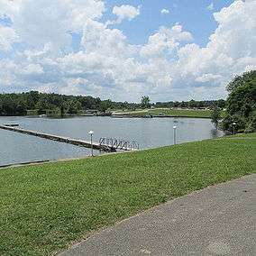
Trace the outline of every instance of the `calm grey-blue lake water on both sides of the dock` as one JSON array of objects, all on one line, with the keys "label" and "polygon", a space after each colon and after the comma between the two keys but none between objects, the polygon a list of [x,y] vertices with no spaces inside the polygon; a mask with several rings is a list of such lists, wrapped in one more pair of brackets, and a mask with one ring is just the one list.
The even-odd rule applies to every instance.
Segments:
[{"label": "calm grey-blue lake water on both sides of the dock", "polygon": [[[19,123],[23,129],[84,140],[89,140],[87,132],[93,130],[95,141],[100,137],[135,140],[139,142],[141,149],[173,144],[174,124],[178,127],[178,143],[195,142],[223,135],[222,132],[215,131],[210,120],[198,118],[0,117],[0,123]],[[95,153],[99,152],[95,151]],[[78,146],[0,129],[0,165],[32,160],[74,158],[89,154],[88,149]]]}]

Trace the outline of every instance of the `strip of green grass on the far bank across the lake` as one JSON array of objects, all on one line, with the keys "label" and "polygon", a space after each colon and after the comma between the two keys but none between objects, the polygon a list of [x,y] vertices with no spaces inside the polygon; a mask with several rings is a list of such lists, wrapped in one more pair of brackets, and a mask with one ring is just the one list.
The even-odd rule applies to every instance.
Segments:
[{"label": "strip of green grass on the far bank across the lake", "polygon": [[[124,115],[168,115],[168,116],[176,116],[176,117],[200,117],[200,118],[210,118],[211,110],[194,110],[194,109],[169,109],[169,108],[155,108],[155,109],[145,109],[140,111],[133,112],[120,112],[118,114]],[[222,112],[222,116],[224,117],[224,111]]]}]

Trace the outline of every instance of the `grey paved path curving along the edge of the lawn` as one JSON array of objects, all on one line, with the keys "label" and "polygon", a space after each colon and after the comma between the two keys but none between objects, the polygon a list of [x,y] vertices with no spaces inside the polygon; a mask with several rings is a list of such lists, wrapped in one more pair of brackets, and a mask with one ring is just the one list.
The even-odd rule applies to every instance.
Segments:
[{"label": "grey paved path curving along the edge of the lawn", "polygon": [[256,255],[256,174],[152,208],[64,255]]}]

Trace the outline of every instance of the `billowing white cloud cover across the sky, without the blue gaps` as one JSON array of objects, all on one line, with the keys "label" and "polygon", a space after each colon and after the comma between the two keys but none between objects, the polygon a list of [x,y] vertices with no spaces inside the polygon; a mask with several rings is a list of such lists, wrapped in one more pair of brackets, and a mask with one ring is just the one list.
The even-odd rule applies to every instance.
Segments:
[{"label": "billowing white cloud cover across the sky, without the blue gaps", "polygon": [[[26,0],[14,6],[3,1],[0,5],[8,5],[0,15],[8,15],[13,25],[0,27],[0,38],[9,35],[8,40],[2,36],[0,48],[10,50],[19,40],[24,50],[0,59],[1,90],[31,88],[130,101],[142,95],[152,100],[216,98],[225,95],[234,75],[256,69],[255,1],[238,0],[215,13],[217,28],[205,47],[193,43],[192,34],[178,23],[160,27],[144,45],[131,45],[121,30],[100,21],[103,1]],[[138,9],[133,14],[118,10],[121,20],[138,14]],[[82,38],[77,52],[69,44],[70,32]]]}]

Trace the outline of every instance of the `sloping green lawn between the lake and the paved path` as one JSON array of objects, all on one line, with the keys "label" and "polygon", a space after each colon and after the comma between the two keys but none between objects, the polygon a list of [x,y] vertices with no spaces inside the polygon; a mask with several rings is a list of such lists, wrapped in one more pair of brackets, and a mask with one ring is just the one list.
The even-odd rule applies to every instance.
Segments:
[{"label": "sloping green lawn between the lake and the paved path", "polygon": [[256,133],[0,169],[0,255],[49,255],[151,206],[256,172]]}]

